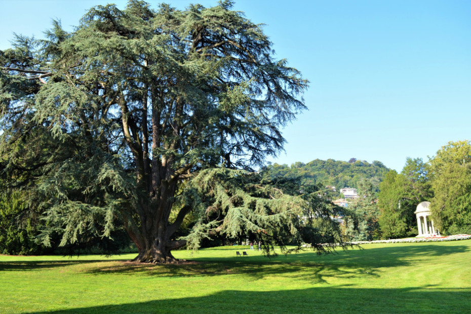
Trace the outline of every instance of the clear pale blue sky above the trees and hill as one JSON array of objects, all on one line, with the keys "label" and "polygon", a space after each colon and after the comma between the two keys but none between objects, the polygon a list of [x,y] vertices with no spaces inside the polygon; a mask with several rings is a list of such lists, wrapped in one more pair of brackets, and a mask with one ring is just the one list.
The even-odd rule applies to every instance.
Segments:
[{"label": "clear pale blue sky above the trees and hill", "polygon": [[[13,32],[40,38],[52,18],[71,30],[106,3],[126,6],[0,0],[0,50]],[[407,156],[427,161],[448,141],[471,139],[471,1],[238,1],[234,9],[266,24],[277,57],[310,81],[309,110],[284,129],[286,152],[269,161],[355,157],[400,171]]]}]

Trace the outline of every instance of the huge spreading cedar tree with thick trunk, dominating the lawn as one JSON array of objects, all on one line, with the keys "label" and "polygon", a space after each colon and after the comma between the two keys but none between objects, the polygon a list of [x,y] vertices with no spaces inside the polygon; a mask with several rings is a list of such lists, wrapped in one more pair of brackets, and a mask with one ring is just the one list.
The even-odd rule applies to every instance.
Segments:
[{"label": "huge spreading cedar tree with thick trunk, dominating the lawn", "polygon": [[[305,108],[307,87],[298,70],[273,58],[261,26],[231,6],[97,6],[71,33],[54,22],[46,41],[19,36],[0,53],[7,160],[22,134],[39,129],[67,147],[34,166],[50,227],[44,243],[52,232],[62,234],[61,245],[111,237],[119,222],[139,250],[136,261],[170,262],[171,250],[187,243],[175,232],[192,210],[218,208],[223,216],[213,218],[230,235],[262,232],[267,252],[282,243],[275,229],[291,225],[301,239],[309,219],[288,221],[329,218],[299,191],[249,179],[227,186],[251,177],[235,169],[250,171],[283,148],[280,128]],[[215,167],[222,168],[203,171]],[[188,239],[195,244],[202,230],[218,228],[201,220]]]}]

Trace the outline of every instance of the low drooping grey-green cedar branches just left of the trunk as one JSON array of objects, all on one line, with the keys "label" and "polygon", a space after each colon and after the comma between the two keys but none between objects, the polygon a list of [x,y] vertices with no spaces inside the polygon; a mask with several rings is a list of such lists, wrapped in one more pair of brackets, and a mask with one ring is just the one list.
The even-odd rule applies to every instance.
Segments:
[{"label": "low drooping grey-green cedar branches just left of the trunk", "polygon": [[46,229],[41,239],[50,246],[51,234],[62,235],[60,246],[110,238],[116,219],[135,200],[132,175],[123,171],[119,160],[99,150],[77,151],[70,159],[50,165],[38,193],[49,200],[44,211]]}]

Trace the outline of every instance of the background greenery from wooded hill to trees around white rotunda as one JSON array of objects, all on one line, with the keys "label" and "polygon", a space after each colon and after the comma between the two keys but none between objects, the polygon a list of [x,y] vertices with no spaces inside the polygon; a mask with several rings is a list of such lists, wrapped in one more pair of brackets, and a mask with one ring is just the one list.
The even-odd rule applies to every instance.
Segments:
[{"label": "background greenery from wooded hill to trees around white rotunda", "polygon": [[[301,177],[304,182],[350,186],[359,198],[343,209],[347,240],[368,241],[415,237],[414,214],[423,201],[431,203],[435,226],[442,234],[471,233],[471,144],[449,142],[428,162],[407,158],[400,173],[380,162],[315,160],[307,164],[270,165],[273,177]],[[325,190],[331,198],[339,193]]]}]

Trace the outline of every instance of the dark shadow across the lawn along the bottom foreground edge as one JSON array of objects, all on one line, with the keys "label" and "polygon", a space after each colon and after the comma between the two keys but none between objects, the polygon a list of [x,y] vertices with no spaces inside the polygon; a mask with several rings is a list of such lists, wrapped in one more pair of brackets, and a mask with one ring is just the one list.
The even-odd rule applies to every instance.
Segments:
[{"label": "dark shadow across the lawn along the bottom foreground edge", "polygon": [[[281,288],[282,289],[282,288]],[[226,290],[202,297],[172,298],[48,313],[469,313],[470,289],[355,289],[323,287],[279,291]],[[42,312],[37,312],[42,313]],[[46,312],[43,312],[46,313]]]}]

